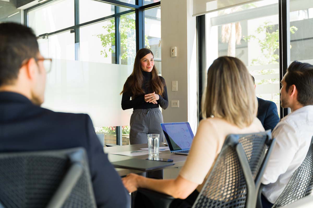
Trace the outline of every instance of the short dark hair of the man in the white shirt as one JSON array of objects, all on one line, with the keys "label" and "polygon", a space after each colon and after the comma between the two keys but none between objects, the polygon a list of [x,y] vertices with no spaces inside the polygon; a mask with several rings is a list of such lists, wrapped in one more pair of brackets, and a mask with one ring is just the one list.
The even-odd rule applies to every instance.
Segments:
[{"label": "short dark hair of the man in the white shirt", "polygon": [[313,65],[294,61],[289,65],[287,72],[284,76],[286,92],[291,85],[295,85],[298,102],[303,106],[313,105]]}]

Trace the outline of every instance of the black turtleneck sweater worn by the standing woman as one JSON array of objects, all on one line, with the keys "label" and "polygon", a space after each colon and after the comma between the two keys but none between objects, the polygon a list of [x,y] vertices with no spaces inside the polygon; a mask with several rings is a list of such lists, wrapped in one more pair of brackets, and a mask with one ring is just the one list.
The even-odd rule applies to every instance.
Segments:
[{"label": "black turtleneck sweater worn by the standing woman", "polygon": [[[142,89],[146,92],[145,94],[153,93],[152,89],[149,87],[150,86],[150,81],[151,81],[151,72],[146,72],[142,71],[143,75],[143,84],[142,84]],[[145,102],[145,94],[139,95],[133,100],[130,100],[132,93],[131,90],[123,93],[122,95],[122,109],[148,109],[148,108],[159,108],[159,105],[161,106],[162,109],[167,109],[168,106],[168,98],[167,98],[167,89],[166,89],[166,84],[165,80],[162,76],[159,76],[161,81],[164,83],[164,90],[163,94],[159,94],[159,99],[156,101],[157,104],[153,103],[147,103]],[[128,79],[125,82],[126,87],[129,86]]]}]

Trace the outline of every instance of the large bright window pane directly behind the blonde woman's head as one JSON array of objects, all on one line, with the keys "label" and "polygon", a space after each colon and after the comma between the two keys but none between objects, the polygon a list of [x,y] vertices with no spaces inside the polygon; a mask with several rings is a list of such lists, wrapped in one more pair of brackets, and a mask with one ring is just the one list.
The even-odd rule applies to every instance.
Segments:
[{"label": "large bright window pane directly behind the blonde woman's head", "polygon": [[206,65],[219,56],[239,58],[254,76],[257,97],[279,109],[278,12],[278,0],[264,0],[206,14]]}]

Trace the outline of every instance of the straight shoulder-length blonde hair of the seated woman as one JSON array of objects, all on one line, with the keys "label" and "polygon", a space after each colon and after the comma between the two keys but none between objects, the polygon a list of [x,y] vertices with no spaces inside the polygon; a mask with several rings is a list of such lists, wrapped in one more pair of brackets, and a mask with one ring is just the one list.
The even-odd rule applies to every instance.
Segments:
[{"label": "straight shoulder-length blonde hair of the seated woman", "polygon": [[222,56],[213,61],[203,95],[203,118],[214,116],[244,128],[256,117],[258,101],[251,75],[238,58]]}]

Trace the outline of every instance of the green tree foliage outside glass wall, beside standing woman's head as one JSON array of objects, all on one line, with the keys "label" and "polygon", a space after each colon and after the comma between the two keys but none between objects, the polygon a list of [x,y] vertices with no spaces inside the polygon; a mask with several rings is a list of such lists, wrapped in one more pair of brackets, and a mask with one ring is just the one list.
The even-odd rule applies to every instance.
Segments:
[{"label": "green tree foliage outside glass wall, beside standing woman's head", "polygon": [[[108,52],[115,54],[112,46],[115,46],[115,20],[111,19],[109,23],[102,27],[105,30],[104,34],[97,34],[100,38],[103,50],[101,55],[108,57]],[[127,60],[128,65],[132,65],[136,56],[136,21],[135,14],[121,16],[120,18],[120,37],[121,37],[121,60]],[[145,36],[145,44],[149,46],[148,37]],[[109,49],[107,51],[107,48]],[[113,48],[113,49],[112,49]]]}]

